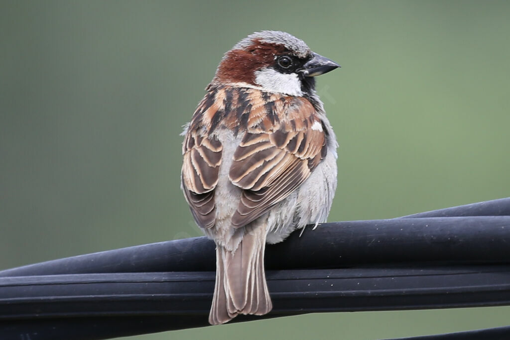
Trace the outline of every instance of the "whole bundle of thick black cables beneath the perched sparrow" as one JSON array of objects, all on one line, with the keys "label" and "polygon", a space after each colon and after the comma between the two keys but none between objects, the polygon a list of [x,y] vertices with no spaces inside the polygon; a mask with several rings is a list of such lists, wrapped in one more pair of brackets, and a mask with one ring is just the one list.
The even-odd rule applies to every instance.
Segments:
[{"label": "whole bundle of thick black cables beneath the perched sparrow", "polygon": [[[265,317],[510,305],[509,242],[510,198],[326,223],[267,247],[274,309]],[[214,267],[214,244],[194,238],[5,270],[0,338],[92,340],[206,326]]]}]

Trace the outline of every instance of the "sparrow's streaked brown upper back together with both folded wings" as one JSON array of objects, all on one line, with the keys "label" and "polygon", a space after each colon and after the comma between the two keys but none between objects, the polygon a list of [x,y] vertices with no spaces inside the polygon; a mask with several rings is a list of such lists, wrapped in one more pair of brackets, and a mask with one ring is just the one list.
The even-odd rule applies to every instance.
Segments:
[{"label": "sparrow's streaked brown upper back together with both folded wings", "polygon": [[197,224],[216,223],[222,129],[243,136],[228,169],[230,181],[241,189],[232,226],[241,227],[288,197],[325,158],[322,126],[306,98],[210,85],[183,143],[182,187]]}]

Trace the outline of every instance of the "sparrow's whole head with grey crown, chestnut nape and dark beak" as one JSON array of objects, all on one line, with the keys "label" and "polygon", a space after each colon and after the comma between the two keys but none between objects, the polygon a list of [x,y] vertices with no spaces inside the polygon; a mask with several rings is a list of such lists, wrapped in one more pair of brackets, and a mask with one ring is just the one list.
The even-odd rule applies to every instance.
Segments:
[{"label": "sparrow's whole head with grey crown, chestnut nape and dark beak", "polygon": [[213,82],[303,96],[315,88],[314,76],[340,67],[302,40],[279,31],[256,32],[228,51]]}]

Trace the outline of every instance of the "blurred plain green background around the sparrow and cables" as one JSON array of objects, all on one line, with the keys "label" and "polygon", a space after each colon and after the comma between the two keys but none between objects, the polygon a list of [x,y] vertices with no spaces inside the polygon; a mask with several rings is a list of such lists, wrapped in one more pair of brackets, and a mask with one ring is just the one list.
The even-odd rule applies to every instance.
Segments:
[{"label": "blurred plain green background around the sparrow and cables", "polygon": [[[330,221],[510,196],[510,3],[2,1],[0,269],[195,237],[183,125],[222,54],[283,30],[342,65]],[[327,313],[133,337],[375,339],[510,324],[510,308]],[[261,328],[262,327],[262,328]]]}]

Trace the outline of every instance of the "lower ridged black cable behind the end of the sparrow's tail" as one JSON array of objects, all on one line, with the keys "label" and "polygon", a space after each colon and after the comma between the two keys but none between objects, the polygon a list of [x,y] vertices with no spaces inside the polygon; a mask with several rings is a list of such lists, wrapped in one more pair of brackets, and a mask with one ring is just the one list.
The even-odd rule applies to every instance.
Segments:
[{"label": "lower ridged black cable behind the end of the sparrow's tail", "polygon": [[[510,265],[285,270],[269,271],[267,279],[274,304],[267,318],[309,312],[510,304]],[[115,336],[119,336],[207,326],[213,289],[214,272],[4,278],[0,284],[0,334],[2,338],[18,334],[19,338],[21,330],[32,330],[32,340],[67,339],[73,325],[78,331],[71,333],[74,339],[102,339],[116,330]],[[147,324],[146,317],[152,316],[161,317],[163,328]],[[234,321],[254,318],[260,317]],[[90,333],[91,323],[94,331]],[[44,324],[54,327],[51,334],[39,329]],[[128,330],[130,333],[125,333]]]}]

